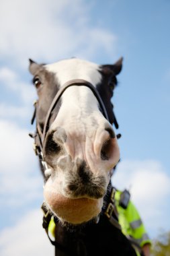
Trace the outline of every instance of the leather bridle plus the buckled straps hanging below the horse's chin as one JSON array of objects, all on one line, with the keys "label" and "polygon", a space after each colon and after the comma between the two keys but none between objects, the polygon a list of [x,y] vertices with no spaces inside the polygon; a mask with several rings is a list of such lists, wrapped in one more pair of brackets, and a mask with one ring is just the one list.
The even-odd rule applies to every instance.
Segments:
[{"label": "leather bridle plus the buckled straps hanging below the horse's chin", "polygon": [[[99,103],[99,109],[101,110],[101,113],[103,114],[105,119],[107,119],[109,121],[108,113],[103,104],[103,100],[101,99],[99,92],[97,91],[95,86],[93,86],[93,84],[91,84],[83,79],[72,79],[72,80],[69,80],[68,82],[66,82],[60,88],[60,90],[58,90],[58,92],[56,93],[56,96],[54,97],[54,100],[52,100],[52,103],[50,104],[50,108],[48,109],[48,113],[46,115],[43,131],[41,130],[40,124],[38,123],[38,121],[36,121],[36,133],[29,134],[30,137],[34,138],[33,148],[34,148],[36,155],[39,157],[39,160],[44,169],[44,173],[48,169],[48,164],[44,161],[42,151],[43,151],[46,134],[47,134],[48,128],[49,128],[49,122],[50,122],[50,117],[52,115],[52,110],[54,110],[56,104],[58,104],[58,101],[60,100],[60,97],[65,92],[65,90],[67,90],[67,88],[69,88],[71,86],[86,86],[87,88],[90,88],[91,91],[93,92],[93,94],[95,95],[95,98],[97,98],[97,102]],[[35,109],[34,109],[34,114],[33,114],[32,121],[31,121],[32,124],[34,123],[34,120],[36,119],[37,105],[38,105],[38,101],[34,102]],[[118,129],[118,122],[116,120],[115,115],[114,115],[114,125],[115,125],[116,129]],[[120,134],[117,135],[118,138],[120,136],[121,136]],[[108,190],[108,193],[107,193],[108,203],[105,205],[105,209],[103,209],[103,213],[105,214],[105,216],[108,218],[108,220],[110,221],[110,223],[112,225],[114,225],[118,229],[121,229],[120,224],[118,223],[118,216],[117,216],[117,212],[116,212],[115,206],[114,206],[114,194],[115,194],[115,189],[110,187]],[[50,213],[48,207],[46,206],[46,203],[42,203],[42,211],[44,212],[42,226],[46,230],[46,234],[48,235],[50,243],[52,243],[52,245],[54,245],[55,247],[60,248],[60,245],[58,245],[58,243],[56,241],[52,241],[52,239],[50,238],[50,236],[48,234],[48,225],[50,223],[52,214]],[[98,222],[99,222],[99,218],[96,220],[96,224]],[[65,249],[63,249],[63,248],[60,248],[60,249],[65,251]]]}]

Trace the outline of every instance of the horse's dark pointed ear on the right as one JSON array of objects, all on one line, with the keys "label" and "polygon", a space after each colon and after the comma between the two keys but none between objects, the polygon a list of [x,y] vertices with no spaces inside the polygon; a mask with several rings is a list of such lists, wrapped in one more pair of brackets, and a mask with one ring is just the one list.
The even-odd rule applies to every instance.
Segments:
[{"label": "horse's dark pointed ear on the right", "polygon": [[122,70],[122,61],[123,58],[121,57],[114,65],[102,65],[102,73],[104,75],[118,75]]}]

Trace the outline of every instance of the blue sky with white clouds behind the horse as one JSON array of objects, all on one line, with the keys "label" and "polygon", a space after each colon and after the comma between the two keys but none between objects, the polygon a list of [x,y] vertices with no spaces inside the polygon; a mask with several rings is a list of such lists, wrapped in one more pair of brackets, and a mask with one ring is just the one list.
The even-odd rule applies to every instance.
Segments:
[{"label": "blue sky with white clouds behind the horse", "polygon": [[170,230],[170,1],[1,0],[0,255],[52,255],[42,229],[43,179],[28,133],[37,98],[28,59],[124,57],[114,92],[122,134],[112,179],[130,189],[151,238]]}]

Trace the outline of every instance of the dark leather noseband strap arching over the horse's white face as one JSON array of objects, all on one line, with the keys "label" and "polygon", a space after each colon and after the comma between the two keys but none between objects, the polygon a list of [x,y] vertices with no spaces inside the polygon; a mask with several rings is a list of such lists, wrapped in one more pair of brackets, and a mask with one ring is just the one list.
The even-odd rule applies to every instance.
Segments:
[{"label": "dark leather noseband strap arching over the horse's white face", "polygon": [[65,92],[65,90],[67,90],[67,88],[69,88],[70,86],[87,86],[88,88],[91,89],[91,91],[93,92],[93,94],[95,95],[95,97],[97,98],[98,102],[99,102],[99,106],[101,108],[101,111],[105,117],[105,119],[108,119],[108,113],[105,110],[105,106],[103,104],[103,100],[101,100],[101,97],[99,95],[99,92],[97,92],[96,88],[89,82],[83,80],[83,79],[73,79],[70,80],[68,82],[66,82],[61,88],[60,90],[58,90],[54,100],[52,100],[52,104],[50,105],[50,108],[48,110],[48,113],[46,115],[46,121],[44,124],[44,130],[43,130],[43,135],[42,135],[42,144],[44,142],[44,139],[46,137],[46,132],[48,130],[48,124],[50,121],[50,115],[52,113],[52,110],[54,109],[54,107],[56,106],[56,104],[58,103],[58,101],[60,100],[60,97],[62,96],[62,94]]}]

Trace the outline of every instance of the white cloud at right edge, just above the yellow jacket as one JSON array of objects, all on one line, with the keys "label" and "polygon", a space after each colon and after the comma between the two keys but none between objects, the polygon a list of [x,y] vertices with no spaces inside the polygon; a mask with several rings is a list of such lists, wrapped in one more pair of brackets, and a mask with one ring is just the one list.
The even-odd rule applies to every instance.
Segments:
[{"label": "white cloud at right edge, just above the yellow jacket", "polygon": [[118,164],[112,183],[118,189],[129,189],[144,223],[151,234],[167,225],[167,202],[170,177],[156,160],[124,160]]}]

